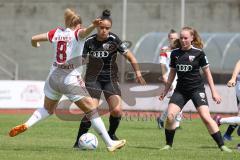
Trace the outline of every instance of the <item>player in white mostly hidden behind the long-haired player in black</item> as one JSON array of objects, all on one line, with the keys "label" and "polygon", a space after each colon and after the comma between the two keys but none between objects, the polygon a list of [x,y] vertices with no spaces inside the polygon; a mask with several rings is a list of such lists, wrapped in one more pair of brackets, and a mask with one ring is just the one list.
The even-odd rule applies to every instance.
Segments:
[{"label": "player in white mostly hidden behind the long-haired player in black", "polygon": [[[164,85],[167,84],[167,78],[168,78],[168,74],[170,72],[170,56],[171,56],[171,52],[174,49],[174,41],[178,39],[178,33],[171,29],[170,32],[168,33],[168,46],[164,46],[161,48],[160,50],[160,55],[159,55],[159,63],[161,66],[161,71],[162,71],[162,75],[159,78]],[[177,84],[177,77],[175,77],[172,86],[170,87],[167,97],[170,98],[173,94],[173,91],[176,87]],[[157,123],[158,123],[158,127],[159,128],[163,128],[164,127],[164,121],[167,118],[167,109],[161,114],[160,117],[157,118]],[[182,119],[182,111],[178,114],[177,118],[176,118],[176,128],[180,127],[180,121]]]}]

